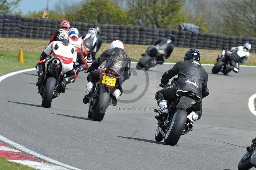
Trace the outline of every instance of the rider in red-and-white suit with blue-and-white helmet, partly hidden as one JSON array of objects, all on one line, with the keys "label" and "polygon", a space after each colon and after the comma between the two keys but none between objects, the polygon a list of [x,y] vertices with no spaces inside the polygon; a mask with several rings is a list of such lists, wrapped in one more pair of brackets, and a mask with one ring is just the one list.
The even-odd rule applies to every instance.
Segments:
[{"label": "rider in red-and-white suit with blue-and-white helmet, partly hidden", "polygon": [[77,62],[79,63],[79,66],[75,70],[76,74],[78,74],[88,67],[87,62],[84,59],[84,57],[87,56],[87,51],[85,49],[84,41],[78,36],[79,32],[76,28],[70,28],[68,34],[69,43],[76,47]]}]

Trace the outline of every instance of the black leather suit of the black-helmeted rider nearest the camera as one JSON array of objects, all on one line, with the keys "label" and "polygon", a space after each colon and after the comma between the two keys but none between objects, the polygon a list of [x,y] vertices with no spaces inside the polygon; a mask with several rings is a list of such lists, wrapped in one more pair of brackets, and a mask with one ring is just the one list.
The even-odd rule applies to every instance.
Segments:
[{"label": "black leather suit of the black-helmeted rider nearest the camera", "polygon": [[[209,95],[209,89],[207,88],[208,73],[198,61],[191,59],[177,62],[170,70],[167,70],[163,74],[161,83],[167,84],[169,80],[177,74],[176,84],[156,92],[157,103],[162,100],[175,102],[177,90],[191,90],[203,98]],[[190,113],[192,111],[196,112],[198,119],[201,118],[202,100],[201,102],[193,104],[188,112]]]}]

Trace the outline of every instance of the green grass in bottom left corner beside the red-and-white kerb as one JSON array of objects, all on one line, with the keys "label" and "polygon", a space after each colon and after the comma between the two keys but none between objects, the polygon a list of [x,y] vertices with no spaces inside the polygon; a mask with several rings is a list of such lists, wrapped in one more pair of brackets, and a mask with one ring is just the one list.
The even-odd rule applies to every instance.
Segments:
[{"label": "green grass in bottom left corner beside the red-and-white kerb", "polygon": [[36,170],[26,165],[10,162],[3,157],[0,157],[0,170]]}]

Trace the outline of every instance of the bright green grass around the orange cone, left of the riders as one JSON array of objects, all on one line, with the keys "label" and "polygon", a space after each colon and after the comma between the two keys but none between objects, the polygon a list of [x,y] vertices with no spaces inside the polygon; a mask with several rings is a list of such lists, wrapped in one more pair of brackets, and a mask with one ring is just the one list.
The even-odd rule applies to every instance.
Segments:
[{"label": "bright green grass around the orange cone, left of the riders", "polygon": [[18,61],[19,51],[0,50],[0,75],[36,66],[41,52],[23,52],[24,63]]}]

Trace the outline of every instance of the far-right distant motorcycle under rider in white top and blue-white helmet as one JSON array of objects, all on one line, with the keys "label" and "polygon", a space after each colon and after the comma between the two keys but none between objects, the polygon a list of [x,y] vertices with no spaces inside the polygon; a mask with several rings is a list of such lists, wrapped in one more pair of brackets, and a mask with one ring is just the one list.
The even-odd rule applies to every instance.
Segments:
[{"label": "far-right distant motorcycle under rider in white top and blue-white helmet", "polygon": [[217,63],[212,68],[212,73],[218,74],[219,72],[222,72],[227,75],[232,70],[232,61],[232,52],[230,51],[225,52],[225,55],[218,56]]}]

